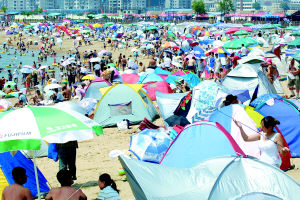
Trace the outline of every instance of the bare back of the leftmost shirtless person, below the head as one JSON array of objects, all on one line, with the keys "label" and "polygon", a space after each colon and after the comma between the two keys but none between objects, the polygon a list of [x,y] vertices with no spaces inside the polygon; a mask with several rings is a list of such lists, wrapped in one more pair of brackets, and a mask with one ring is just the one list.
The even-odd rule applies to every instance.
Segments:
[{"label": "bare back of the leftmost shirtless person, below the head", "polygon": [[2,193],[2,200],[11,199],[33,200],[30,190],[18,184],[7,186]]}]

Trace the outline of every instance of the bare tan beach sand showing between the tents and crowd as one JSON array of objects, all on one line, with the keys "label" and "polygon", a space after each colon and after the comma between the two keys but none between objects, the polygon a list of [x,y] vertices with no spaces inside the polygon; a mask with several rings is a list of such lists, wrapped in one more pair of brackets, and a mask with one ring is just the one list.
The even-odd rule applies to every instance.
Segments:
[{"label": "bare tan beach sand showing between the tents and crowd", "polygon": [[[8,36],[4,33],[0,34],[0,43],[6,40]],[[12,38],[12,37],[10,37]],[[30,38],[32,41],[39,40],[39,38]],[[25,40],[26,41],[26,40]],[[15,45],[15,41],[13,44]],[[39,45],[31,46],[32,49],[38,49]],[[73,40],[64,39],[63,48],[60,50],[58,47],[54,47],[58,53],[66,53],[69,49],[73,49]],[[79,47],[79,51],[85,50],[97,50],[103,49],[102,42],[94,42],[91,46]],[[111,51],[110,47],[107,48]],[[126,55],[132,55],[131,48],[129,49],[117,49],[115,52],[112,51],[113,58],[117,59],[120,53]],[[139,61],[142,61],[146,66],[148,65],[149,59],[147,57],[139,57]],[[286,83],[283,82],[285,93],[289,95],[286,89]],[[10,99],[11,100],[11,99]],[[15,100],[14,100],[15,101]],[[163,120],[160,118],[154,122],[157,125],[163,125]],[[117,128],[105,128],[104,135],[95,137],[93,140],[79,142],[79,148],[77,150],[77,180],[74,186],[81,187],[83,192],[88,196],[88,199],[95,199],[99,187],[97,181],[101,173],[109,173],[112,178],[116,181],[118,188],[120,189],[120,196],[122,200],[132,200],[134,196],[130,189],[129,183],[123,182],[122,179],[125,176],[119,176],[117,170],[121,168],[121,164],[118,159],[110,158],[109,152],[118,149],[122,150],[127,155],[130,154],[128,151],[130,144],[130,136],[134,133],[139,132],[138,126],[131,126],[131,129],[126,131],[118,131]],[[199,152],[200,153],[200,152]],[[292,164],[296,167],[293,170],[287,172],[296,181],[300,182],[300,159],[292,159]],[[58,172],[58,162],[54,162],[48,158],[38,158],[37,166],[45,175],[51,187],[58,187],[59,183],[56,179],[56,173]],[[156,183],[153,183],[156,184]]]}]

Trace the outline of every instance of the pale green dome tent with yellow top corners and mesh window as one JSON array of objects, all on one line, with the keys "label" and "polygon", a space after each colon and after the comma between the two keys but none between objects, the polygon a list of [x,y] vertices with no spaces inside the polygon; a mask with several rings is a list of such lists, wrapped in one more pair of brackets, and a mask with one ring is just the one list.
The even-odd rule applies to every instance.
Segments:
[{"label": "pale green dome tent with yellow top corners and mesh window", "polygon": [[131,124],[140,123],[145,117],[154,120],[158,113],[142,87],[142,84],[117,84],[100,88],[102,97],[94,120],[104,127],[116,126],[123,119]]}]

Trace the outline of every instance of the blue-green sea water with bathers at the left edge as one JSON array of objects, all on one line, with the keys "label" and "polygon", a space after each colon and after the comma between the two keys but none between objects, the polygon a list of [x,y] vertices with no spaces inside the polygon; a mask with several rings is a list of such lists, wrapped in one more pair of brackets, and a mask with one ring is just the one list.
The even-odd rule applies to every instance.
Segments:
[{"label": "blue-green sea water with bathers at the left edge", "polygon": [[[16,55],[14,54],[15,50],[17,51]],[[34,53],[34,57],[32,57],[32,52]],[[22,62],[22,67],[24,65],[32,66],[33,62],[35,61],[37,67],[39,64],[41,64],[41,66],[43,65],[49,66],[47,69],[45,69],[46,71],[48,71],[49,69],[54,69],[55,77],[56,79],[58,79],[58,77],[60,77],[59,67],[52,67],[52,64],[54,62],[54,59],[56,60],[56,63],[60,61],[61,58],[60,55],[56,57],[48,56],[47,61],[43,60],[43,62],[38,62],[39,52],[40,51],[38,50],[29,49],[26,50],[25,53],[22,52],[22,55],[20,55],[20,51],[17,50],[16,48],[11,47],[8,51],[4,51],[4,49],[0,47],[0,55],[2,57],[0,58],[0,69],[1,69],[0,78],[4,77],[8,79],[8,70],[10,70],[11,73],[13,73],[14,70],[17,69],[19,72],[18,87],[23,88],[24,87],[23,85],[24,80],[22,81],[23,74],[20,72],[18,66],[20,62]]]}]

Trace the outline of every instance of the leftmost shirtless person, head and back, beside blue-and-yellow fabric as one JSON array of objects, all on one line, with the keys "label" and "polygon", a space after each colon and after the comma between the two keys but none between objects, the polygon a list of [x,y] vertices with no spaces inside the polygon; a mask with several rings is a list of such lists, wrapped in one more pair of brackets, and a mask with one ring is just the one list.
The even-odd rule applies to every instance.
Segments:
[{"label": "leftmost shirtless person, head and back, beside blue-and-yellow fabric", "polygon": [[27,182],[26,170],[16,167],[12,170],[14,184],[7,186],[2,193],[2,200],[33,200],[29,189],[22,185]]}]

